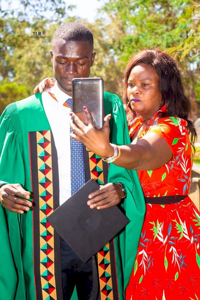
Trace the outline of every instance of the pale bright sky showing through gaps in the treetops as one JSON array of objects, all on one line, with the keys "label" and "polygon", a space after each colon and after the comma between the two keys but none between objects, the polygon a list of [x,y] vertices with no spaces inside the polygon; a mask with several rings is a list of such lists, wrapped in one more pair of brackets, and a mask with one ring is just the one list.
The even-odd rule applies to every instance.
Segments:
[{"label": "pale bright sky showing through gaps in the treetops", "polygon": [[[97,14],[98,8],[103,6],[105,0],[65,0],[66,6],[68,5],[76,5],[76,8],[73,11],[69,11],[69,16],[78,16],[81,18],[86,18],[89,22],[94,22],[95,16]],[[12,1],[12,6],[10,9],[15,9],[19,6],[20,0]],[[8,9],[8,3],[6,0],[2,0],[1,2],[2,9]]]}]

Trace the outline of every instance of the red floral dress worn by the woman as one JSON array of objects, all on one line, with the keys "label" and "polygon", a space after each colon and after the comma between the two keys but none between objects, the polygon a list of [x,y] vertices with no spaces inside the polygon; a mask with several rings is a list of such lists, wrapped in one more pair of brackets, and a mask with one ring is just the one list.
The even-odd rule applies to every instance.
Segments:
[{"label": "red floral dress worn by the woman", "polygon": [[[142,123],[137,116],[130,135]],[[187,195],[192,150],[187,122],[156,113],[139,134],[158,133],[173,157],[161,168],[138,171],[145,197]],[[200,213],[186,196],[173,204],[147,204],[138,253],[126,289],[126,300],[200,300]]]}]

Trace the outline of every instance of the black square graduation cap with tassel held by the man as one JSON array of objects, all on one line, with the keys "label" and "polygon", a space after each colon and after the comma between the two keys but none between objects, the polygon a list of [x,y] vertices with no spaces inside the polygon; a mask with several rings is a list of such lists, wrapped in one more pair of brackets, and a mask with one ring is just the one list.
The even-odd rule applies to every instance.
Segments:
[{"label": "black square graduation cap with tassel held by the man", "polygon": [[98,183],[90,179],[47,217],[47,221],[83,262],[87,262],[92,257],[93,290],[97,290],[94,287],[97,284],[94,280],[97,277],[94,255],[129,222],[116,205],[100,210],[91,209],[87,205],[88,195],[97,189],[99,189]]}]

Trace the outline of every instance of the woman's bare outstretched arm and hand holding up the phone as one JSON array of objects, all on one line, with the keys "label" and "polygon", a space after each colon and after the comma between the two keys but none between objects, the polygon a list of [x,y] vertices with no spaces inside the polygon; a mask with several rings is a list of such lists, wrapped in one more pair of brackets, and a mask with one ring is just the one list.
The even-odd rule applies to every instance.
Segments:
[{"label": "woman's bare outstretched arm and hand holding up the phone", "polygon": [[[71,113],[74,121],[70,124],[73,130],[71,137],[82,142],[100,157],[113,156],[114,149],[109,144],[110,115],[104,118],[103,128],[98,130],[93,125],[93,119],[88,109],[85,109],[85,113],[88,118],[88,126],[74,113]],[[127,169],[157,169],[167,163],[173,156],[170,146],[158,133],[147,133],[136,144],[118,147],[121,150],[121,156],[113,163]]]}]

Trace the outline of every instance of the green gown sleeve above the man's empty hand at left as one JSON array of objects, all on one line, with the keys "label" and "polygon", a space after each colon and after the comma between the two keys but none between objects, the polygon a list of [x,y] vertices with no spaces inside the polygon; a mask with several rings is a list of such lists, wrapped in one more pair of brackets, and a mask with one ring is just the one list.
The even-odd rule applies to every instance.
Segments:
[{"label": "green gown sleeve above the man's empty hand at left", "polygon": [[20,183],[24,186],[22,130],[16,110],[13,103],[0,118],[0,183]]}]

